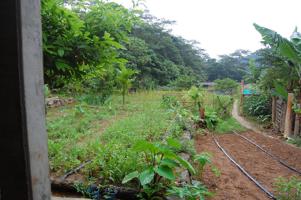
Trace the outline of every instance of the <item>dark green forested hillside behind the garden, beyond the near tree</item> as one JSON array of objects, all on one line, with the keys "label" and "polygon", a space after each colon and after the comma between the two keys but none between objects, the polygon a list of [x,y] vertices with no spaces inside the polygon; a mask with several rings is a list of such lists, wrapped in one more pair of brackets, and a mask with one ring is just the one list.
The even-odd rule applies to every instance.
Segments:
[{"label": "dark green forested hillside behind the garden, beyond the near tree", "polygon": [[[176,21],[158,19],[145,10],[141,25],[136,24],[127,36],[129,43],[123,43],[127,50],[120,49],[119,56],[127,59],[126,65],[140,69],[140,79],[155,79],[159,85],[173,85],[175,79],[190,76],[199,82],[213,82],[215,79],[241,79],[246,70],[251,52],[238,49],[229,55],[212,59],[200,48],[200,42],[186,40],[171,34]],[[206,38],[204,38],[205,40]]]}]

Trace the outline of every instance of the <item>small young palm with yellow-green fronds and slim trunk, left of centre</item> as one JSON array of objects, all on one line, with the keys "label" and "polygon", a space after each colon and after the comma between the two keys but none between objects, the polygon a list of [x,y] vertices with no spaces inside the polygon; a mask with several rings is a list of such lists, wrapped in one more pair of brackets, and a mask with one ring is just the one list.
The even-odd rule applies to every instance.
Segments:
[{"label": "small young palm with yellow-green fronds and slim trunk, left of centre", "polygon": [[[122,104],[124,105],[124,97],[125,92],[127,89],[131,88],[132,82],[135,80],[136,77],[131,78],[134,74],[139,74],[141,71],[139,69],[126,69],[124,66],[120,65],[120,70],[117,70],[116,73],[116,82],[118,82],[121,85],[121,92],[123,96]],[[131,79],[130,79],[131,78]]]}]

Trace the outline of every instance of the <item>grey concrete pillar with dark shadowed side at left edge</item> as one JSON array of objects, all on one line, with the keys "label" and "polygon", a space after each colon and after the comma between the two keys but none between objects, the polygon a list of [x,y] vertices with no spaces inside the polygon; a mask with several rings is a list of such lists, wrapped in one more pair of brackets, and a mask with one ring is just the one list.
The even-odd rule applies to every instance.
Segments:
[{"label": "grey concrete pillar with dark shadowed side at left edge", "polygon": [[[51,199],[40,0],[2,2],[1,199]],[[33,104],[32,101],[36,103]]]}]

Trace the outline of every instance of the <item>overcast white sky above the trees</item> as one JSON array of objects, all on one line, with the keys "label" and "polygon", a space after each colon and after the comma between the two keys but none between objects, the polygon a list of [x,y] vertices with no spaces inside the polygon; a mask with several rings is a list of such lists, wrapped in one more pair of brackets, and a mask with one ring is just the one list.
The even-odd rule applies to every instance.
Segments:
[{"label": "overcast white sky above the trees", "polygon": [[[131,0],[110,0],[129,8]],[[177,21],[172,34],[199,41],[212,58],[236,49],[263,48],[253,23],[289,39],[295,26],[301,32],[300,0],[146,0],[157,18]],[[140,5],[140,9],[146,9]]]}]

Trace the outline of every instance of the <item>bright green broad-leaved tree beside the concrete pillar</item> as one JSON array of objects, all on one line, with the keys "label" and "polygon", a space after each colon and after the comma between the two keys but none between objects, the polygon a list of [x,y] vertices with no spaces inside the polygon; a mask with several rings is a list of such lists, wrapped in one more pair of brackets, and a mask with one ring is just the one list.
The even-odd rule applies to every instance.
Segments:
[{"label": "bright green broad-leaved tree beside the concrete pillar", "polygon": [[[88,1],[86,1],[88,2]],[[127,40],[140,10],[124,8],[115,2],[84,5],[81,2],[64,7],[60,0],[42,0],[42,36],[45,82],[66,85],[85,76],[101,77],[112,63],[122,64],[115,52],[124,48],[119,40]],[[77,89],[79,86],[77,86]]]}]

